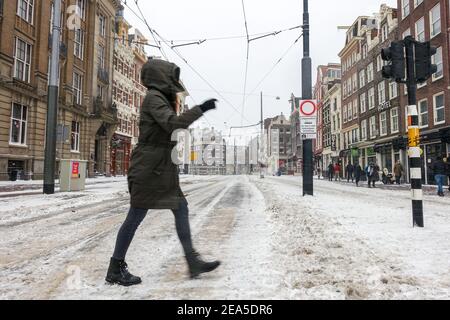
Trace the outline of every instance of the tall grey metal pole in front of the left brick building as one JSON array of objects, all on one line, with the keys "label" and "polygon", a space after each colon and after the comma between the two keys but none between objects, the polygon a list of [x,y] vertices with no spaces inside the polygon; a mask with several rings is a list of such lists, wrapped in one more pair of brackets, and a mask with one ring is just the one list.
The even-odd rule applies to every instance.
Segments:
[{"label": "tall grey metal pole in front of the left brick building", "polygon": [[[47,134],[44,159],[44,194],[55,193],[56,125],[58,122],[59,41],[61,34],[61,0],[54,1],[52,52],[47,104]],[[61,155],[62,157],[62,155]]]}]

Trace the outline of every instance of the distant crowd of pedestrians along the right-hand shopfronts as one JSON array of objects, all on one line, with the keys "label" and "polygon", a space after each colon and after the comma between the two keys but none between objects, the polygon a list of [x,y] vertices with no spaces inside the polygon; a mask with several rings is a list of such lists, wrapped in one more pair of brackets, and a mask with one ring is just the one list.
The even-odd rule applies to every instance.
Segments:
[{"label": "distant crowd of pedestrians along the right-hand shopfronts", "polygon": [[[447,158],[437,157],[428,169],[431,170],[435,178],[438,187],[438,196],[444,197],[444,185],[446,182],[450,185],[450,156]],[[364,180],[367,181],[369,188],[376,188],[377,182],[400,185],[405,175],[405,169],[401,161],[397,161],[392,173],[386,168],[382,170],[377,162],[370,162],[365,168],[358,162],[355,164],[349,163],[345,167],[345,178],[343,178],[342,172],[342,166],[338,162],[330,163],[325,172],[322,172],[321,168],[317,168],[319,179],[321,177],[328,178],[328,181],[342,181],[343,179],[347,179],[348,183],[351,181],[357,187]]]}]

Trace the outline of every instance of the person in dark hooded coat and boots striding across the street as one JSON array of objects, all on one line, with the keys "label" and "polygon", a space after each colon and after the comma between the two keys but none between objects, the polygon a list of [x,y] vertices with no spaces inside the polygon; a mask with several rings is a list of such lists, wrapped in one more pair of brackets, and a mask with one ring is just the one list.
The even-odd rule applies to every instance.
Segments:
[{"label": "person in dark hooded coat and boots striding across the street", "polygon": [[118,232],[106,276],[108,283],[122,286],[142,282],[128,271],[125,257],[136,230],[150,209],[172,210],[191,278],[220,265],[219,261],[203,261],[193,247],[188,202],[179,185],[178,167],[171,157],[176,146],[176,142],[172,142],[172,133],[187,129],[205,112],[216,109],[217,100],[208,100],[178,115],[177,93],[185,91],[180,83],[180,68],[164,60],[149,59],[142,69],[141,80],[148,91],[140,114],[138,145],[128,173],[130,210]]}]

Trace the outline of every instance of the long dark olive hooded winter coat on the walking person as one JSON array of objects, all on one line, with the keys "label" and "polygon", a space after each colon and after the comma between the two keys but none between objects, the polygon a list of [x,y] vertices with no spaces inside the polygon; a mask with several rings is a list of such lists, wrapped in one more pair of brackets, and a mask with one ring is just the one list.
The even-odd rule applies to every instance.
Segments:
[{"label": "long dark olive hooded winter coat on the walking person", "polygon": [[175,130],[188,128],[203,112],[194,107],[180,116],[175,113],[176,93],[184,90],[179,75],[175,64],[157,59],[149,60],[142,69],[142,83],[149,91],[142,104],[139,142],[128,173],[134,208],[177,209],[185,200],[178,167],[171,158],[176,146],[171,137]]}]

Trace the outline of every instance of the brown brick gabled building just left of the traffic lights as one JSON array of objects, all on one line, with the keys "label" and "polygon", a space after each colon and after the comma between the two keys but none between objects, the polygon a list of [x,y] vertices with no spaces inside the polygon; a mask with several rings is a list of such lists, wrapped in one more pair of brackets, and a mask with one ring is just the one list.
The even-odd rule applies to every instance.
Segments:
[{"label": "brown brick gabled building just left of the traffic lights", "polygon": [[[382,5],[376,26],[361,30],[361,53],[356,62],[352,97],[343,101],[343,163],[365,167],[377,162],[392,172],[395,162],[406,163],[406,144],[400,130],[399,86],[382,77],[381,49],[398,38],[397,9]],[[354,76],[352,76],[354,77]],[[356,86],[355,86],[356,84]],[[347,83],[347,86],[349,83]]]}]

